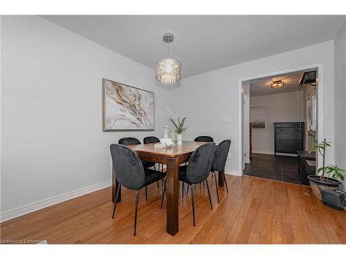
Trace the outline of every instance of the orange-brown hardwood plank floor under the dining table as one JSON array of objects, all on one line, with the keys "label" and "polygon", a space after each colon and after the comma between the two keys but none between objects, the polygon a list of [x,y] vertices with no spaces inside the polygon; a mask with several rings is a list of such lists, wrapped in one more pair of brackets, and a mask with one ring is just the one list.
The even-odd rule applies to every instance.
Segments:
[{"label": "orange-brown hardwood plank floor under the dining table", "polygon": [[[161,186],[140,191],[137,236],[134,191],[123,189],[116,218],[111,219],[111,187],[24,215],[1,224],[2,240],[47,240],[49,244],[320,244],[346,243],[346,211],[336,211],[312,197],[308,186],[226,175],[229,193],[209,178],[195,186],[197,225],[192,224],[190,192],[179,200],[179,233],[166,233]],[[181,193],[181,192],[180,192]],[[164,204],[165,206],[165,204]]]}]

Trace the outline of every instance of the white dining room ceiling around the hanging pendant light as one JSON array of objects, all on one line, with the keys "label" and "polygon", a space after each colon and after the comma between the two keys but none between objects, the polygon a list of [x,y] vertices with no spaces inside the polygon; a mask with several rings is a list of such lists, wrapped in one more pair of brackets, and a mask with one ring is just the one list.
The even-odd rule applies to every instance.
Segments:
[{"label": "white dining room ceiling around the hanging pendant light", "polygon": [[172,32],[183,77],[334,39],[345,16],[42,16],[154,69]]}]

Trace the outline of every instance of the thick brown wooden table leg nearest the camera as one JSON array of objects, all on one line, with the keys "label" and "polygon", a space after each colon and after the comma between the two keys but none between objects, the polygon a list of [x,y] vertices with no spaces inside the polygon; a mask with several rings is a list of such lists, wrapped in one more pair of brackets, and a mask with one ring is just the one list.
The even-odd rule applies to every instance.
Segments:
[{"label": "thick brown wooden table leg nearest the camera", "polygon": [[174,236],[179,231],[179,162],[167,159],[167,233]]}]

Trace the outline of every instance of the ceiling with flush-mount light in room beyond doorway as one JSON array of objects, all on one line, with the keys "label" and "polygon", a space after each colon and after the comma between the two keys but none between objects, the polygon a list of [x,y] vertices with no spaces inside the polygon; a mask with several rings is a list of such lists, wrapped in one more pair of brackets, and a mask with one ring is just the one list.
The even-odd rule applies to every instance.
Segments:
[{"label": "ceiling with flush-mount light in room beyond doorway", "polygon": [[[301,90],[299,87],[299,80],[304,71],[295,72],[285,75],[277,75],[275,77],[263,77],[259,79],[250,80],[250,95],[273,95],[275,93],[288,93]],[[284,88],[271,88],[271,82],[283,80]]]}]

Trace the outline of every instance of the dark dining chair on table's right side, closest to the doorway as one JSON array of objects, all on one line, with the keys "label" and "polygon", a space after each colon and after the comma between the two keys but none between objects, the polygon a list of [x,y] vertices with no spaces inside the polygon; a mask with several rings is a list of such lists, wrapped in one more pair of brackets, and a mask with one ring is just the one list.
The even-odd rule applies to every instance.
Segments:
[{"label": "dark dining chair on table's right side, closest to the doorway", "polygon": [[[215,178],[215,188],[217,189],[217,203],[219,203],[219,188],[217,186],[217,178],[216,178],[216,172],[225,170],[228,152],[230,151],[230,140],[223,140],[221,141],[215,150],[214,160],[212,160],[212,174]],[[224,181],[226,184],[226,190],[228,192],[228,186],[226,181],[226,176],[223,173]]]}]

